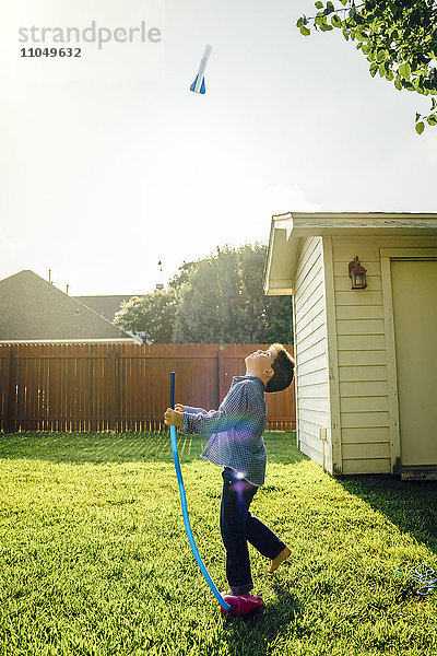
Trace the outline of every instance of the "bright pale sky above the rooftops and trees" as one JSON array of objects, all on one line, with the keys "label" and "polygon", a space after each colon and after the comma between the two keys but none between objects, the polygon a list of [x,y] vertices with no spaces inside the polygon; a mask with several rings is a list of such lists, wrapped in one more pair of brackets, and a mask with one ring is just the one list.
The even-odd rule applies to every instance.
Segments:
[{"label": "bright pale sky above the rooftops and trees", "polygon": [[[0,279],[142,294],[290,211],[436,212],[429,97],[373,79],[307,0],[3,0]],[[158,26],[160,43],[20,58],[17,25]],[[206,93],[189,91],[206,44]],[[55,45],[55,44],[49,44]],[[59,47],[59,44],[58,44]]]}]

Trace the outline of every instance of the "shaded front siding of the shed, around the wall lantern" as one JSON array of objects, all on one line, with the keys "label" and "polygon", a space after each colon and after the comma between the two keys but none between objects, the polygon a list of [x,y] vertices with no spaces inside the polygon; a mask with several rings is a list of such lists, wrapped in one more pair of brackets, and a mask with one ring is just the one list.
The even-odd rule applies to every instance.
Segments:
[{"label": "shaded front siding of the shed, around the wall lantern", "polygon": [[[436,237],[333,237],[343,473],[390,473],[390,417],[380,248],[437,246]],[[368,288],[351,290],[355,255]]]}]

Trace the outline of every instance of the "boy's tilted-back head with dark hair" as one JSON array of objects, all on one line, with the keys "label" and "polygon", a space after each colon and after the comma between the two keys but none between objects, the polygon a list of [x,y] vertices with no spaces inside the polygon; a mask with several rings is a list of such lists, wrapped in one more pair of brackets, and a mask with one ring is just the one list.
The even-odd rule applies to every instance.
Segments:
[{"label": "boy's tilted-back head with dark hair", "polygon": [[248,375],[264,383],[265,391],[282,391],[293,380],[295,362],[282,344],[274,343],[267,351],[259,349],[246,358]]}]

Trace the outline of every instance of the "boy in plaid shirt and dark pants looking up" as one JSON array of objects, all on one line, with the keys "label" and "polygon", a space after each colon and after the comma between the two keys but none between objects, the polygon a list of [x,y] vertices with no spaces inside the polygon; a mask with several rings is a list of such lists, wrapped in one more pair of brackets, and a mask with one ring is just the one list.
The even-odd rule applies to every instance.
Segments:
[{"label": "boy in plaid shirt and dark pants looking up", "polygon": [[247,541],[271,560],[270,573],[291,554],[288,547],[249,513],[249,506],[264,483],[264,391],[288,387],[295,362],[277,343],[251,353],[245,362],[246,375],[233,378],[218,410],[206,412],[177,403],[175,410],[167,408],[164,414],[167,425],[178,426],[184,433],[211,435],[202,457],[224,467],[220,528],[231,590],[223,595],[247,595],[253,589]]}]

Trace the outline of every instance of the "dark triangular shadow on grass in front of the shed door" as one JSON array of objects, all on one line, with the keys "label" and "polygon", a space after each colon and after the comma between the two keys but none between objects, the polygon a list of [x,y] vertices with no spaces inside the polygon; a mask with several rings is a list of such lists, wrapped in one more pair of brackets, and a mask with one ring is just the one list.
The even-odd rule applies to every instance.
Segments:
[{"label": "dark triangular shadow on grass in front of the shed door", "polygon": [[336,479],[400,530],[437,553],[437,481],[401,481],[392,476]]}]

